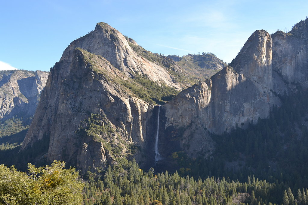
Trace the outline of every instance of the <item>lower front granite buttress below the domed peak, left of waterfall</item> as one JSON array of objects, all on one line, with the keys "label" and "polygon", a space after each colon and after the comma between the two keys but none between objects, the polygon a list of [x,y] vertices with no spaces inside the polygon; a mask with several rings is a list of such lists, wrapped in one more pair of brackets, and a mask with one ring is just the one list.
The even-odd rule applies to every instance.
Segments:
[{"label": "lower front granite buttress below the domed peak, left of waterfall", "polygon": [[[124,93],[108,76],[126,76],[105,58],[83,49],[75,49],[71,55],[70,61],[62,60],[51,69],[22,149],[42,140],[48,144],[47,160],[65,160],[82,171],[104,168],[111,156],[107,144],[121,147],[123,153],[132,143],[144,147],[148,110],[153,106]],[[82,126],[90,128],[84,120],[91,114],[105,116],[102,123],[116,130],[111,138],[101,136],[107,132],[98,133],[98,139],[79,132]]]}]

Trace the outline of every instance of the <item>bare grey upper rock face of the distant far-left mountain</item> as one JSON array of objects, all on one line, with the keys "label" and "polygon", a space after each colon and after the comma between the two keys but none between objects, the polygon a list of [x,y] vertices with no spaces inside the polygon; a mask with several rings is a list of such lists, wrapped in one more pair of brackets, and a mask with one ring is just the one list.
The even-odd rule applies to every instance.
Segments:
[{"label": "bare grey upper rock face of the distant far-left mountain", "polygon": [[0,71],[0,119],[33,116],[47,77],[43,71]]}]

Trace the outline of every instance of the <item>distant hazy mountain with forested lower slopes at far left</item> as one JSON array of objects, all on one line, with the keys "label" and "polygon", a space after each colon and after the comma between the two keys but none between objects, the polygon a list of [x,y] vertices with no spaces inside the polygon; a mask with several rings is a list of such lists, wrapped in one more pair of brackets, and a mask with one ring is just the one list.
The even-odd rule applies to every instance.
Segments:
[{"label": "distant hazy mountain with forested lower slopes at far left", "polygon": [[47,78],[43,71],[0,71],[0,163],[16,162]]}]

